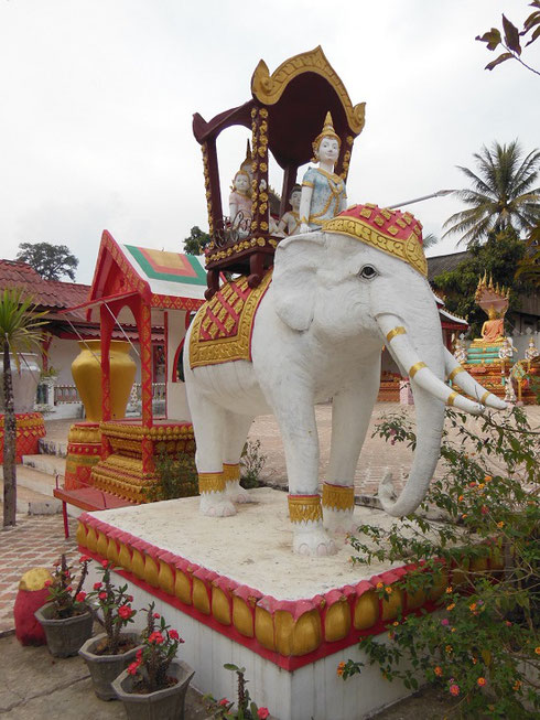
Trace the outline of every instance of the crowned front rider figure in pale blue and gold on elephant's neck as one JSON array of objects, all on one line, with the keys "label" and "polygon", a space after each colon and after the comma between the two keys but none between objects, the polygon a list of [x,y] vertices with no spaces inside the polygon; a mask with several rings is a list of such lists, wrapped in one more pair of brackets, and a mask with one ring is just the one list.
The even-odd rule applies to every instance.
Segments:
[{"label": "crowned front rider figure in pale blue and gold on elephant's neck", "polygon": [[347,206],[345,181],[334,174],[342,141],[334,130],[332,116],[326,112],[323,131],[313,142],[314,162],[318,168],[309,168],[302,180],[300,200],[300,232],[320,230]]}]

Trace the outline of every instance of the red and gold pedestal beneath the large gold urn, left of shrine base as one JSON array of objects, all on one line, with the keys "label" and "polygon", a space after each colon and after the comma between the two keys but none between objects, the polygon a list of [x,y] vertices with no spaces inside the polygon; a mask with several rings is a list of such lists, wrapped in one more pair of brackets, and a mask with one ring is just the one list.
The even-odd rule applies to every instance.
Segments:
[{"label": "red and gold pedestal beneath the large gold urn, left of shrine base", "polygon": [[91,469],[101,456],[99,422],[75,422],[67,436],[65,490],[91,485]]}]

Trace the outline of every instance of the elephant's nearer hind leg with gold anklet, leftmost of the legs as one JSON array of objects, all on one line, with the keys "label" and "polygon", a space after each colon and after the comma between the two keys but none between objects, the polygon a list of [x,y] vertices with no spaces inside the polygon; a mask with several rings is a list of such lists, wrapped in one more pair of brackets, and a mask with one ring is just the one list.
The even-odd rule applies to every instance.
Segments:
[{"label": "elephant's nearer hind leg with gold anklet, leftmost of the legs", "polygon": [[188,393],[190,410],[196,432],[195,463],[203,515],[225,517],[236,509],[225,492],[223,472],[226,411],[196,393]]}]

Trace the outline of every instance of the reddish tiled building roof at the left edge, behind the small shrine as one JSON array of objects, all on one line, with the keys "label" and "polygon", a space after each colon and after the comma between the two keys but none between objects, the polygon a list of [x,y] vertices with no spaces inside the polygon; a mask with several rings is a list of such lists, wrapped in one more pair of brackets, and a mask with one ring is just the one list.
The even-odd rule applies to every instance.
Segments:
[{"label": "reddish tiled building roof at the left edge, behind the small shrine", "polygon": [[88,300],[90,287],[78,282],[44,280],[26,262],[0,260],[0,290],[20,288],[42,308],[73,308]]}]

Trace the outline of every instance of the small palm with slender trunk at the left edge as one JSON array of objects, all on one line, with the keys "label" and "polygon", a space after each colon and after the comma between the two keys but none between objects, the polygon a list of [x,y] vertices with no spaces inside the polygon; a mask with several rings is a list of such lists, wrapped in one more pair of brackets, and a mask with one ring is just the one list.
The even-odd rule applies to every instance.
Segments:
[{"label": "small palm with slender trunk at the left edge", "polygon": [[22,290],[6,289],[0,294],[0,353],[3,354],[3,526],[17,522],[17,420],[13,404],[11,356],[19,370],[21,353],[40,348],[40,320],[45,313],[35,313],[30,298]]}]

